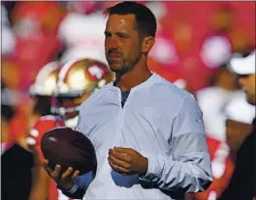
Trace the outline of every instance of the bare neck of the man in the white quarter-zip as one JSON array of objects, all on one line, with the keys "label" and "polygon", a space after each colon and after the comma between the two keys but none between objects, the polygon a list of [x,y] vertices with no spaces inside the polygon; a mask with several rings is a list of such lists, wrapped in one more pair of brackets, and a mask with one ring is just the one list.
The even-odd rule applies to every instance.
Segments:
[{"label": "bare neck of the man in the white quarter-zip", "polygon": [[147,80],[151,75],[152,73],[148,70],[146,64],[142,67],[135,67],[132,71],[124,74],[116,73],[116,87],[120,88],[121,91],[130,91]]}]

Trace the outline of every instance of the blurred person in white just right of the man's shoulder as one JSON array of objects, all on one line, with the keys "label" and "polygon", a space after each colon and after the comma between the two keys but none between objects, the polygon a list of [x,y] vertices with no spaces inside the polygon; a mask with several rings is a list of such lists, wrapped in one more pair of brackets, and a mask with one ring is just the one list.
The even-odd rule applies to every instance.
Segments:
[{"label": "blurred person in white just right of the man's shoulder", "polygon": [[224,105],[240,96],[240,85],[236,75],[229,70],[228,63],[219,68],[212,77],[211,86],[199,90],[195,96],[204,113],[205,129],[211,138],[226,141]]}]

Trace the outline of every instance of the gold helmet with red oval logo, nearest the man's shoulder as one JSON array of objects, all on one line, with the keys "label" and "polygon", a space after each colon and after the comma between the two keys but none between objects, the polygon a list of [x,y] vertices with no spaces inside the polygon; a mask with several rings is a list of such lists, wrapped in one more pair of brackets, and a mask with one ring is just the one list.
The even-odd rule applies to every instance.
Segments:
[{"label": "gold helmet with red oval logo, nearest the man's shoulder", "polygon": [[66,122],[75,119],[80,103],[112,80],[110,68],[97,60],[83,58],[68,61],[58,73],[54,90],[55,105],[51,110],[64,117]]}]

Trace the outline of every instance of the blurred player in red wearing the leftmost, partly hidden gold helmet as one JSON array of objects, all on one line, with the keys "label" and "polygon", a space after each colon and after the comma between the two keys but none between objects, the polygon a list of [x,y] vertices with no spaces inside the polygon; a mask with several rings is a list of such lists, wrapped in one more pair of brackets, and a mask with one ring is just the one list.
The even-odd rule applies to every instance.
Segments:
[{"label": "blurred player in red wearing the leftmost, partly hidden gold helmet", "polygon": [[[39,139],[39,132],[37,131],[37,129],[34,128],[41,127],[47,130],[56,127],[56,124],[61,125],[60,119],[57,119],[57,117],[53,117],[50,115],[51,95],[53,94],[53,90],[56,85],[57,72],[59,71],[59,69],[60,67],[58,65],[58,62],[53,61],[48,63],[38,72],[35,81],[29,88],[29,93],[32,99],[35,101],[35,106],[34,120],[33,123],[31,123],[33,124],[33,128],[30,129],[29,136],[26,139],[26,145],[34,153],[35,150],[37,151],[37,149],[39,148],[34,146],[37,142],[36,138]],[[38,121],[43,121],[44,123],[38,125]],[[44,173],[44,171],[40,170],[41,168],[39,157],[40,155],[34,154],[35,167],[33,169],[33,183],[30,192],[30,199],[44,199],[44,195],[46,192],[46,187],[43,184],[44,182],[41,182],[41,177],[43,177],[42,174]],[[40,180],[40,182],[38,180]],[[39,185],[39,183],[42,184]]]}]

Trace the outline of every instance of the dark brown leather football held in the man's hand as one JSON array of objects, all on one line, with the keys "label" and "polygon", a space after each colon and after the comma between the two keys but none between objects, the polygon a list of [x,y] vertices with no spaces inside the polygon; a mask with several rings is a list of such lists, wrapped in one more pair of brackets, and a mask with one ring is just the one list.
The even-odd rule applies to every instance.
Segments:
[{"label": "dark brown leather football held in the man's hand", "polygon": [[97,159],[91,141],[82,133],[70,128],[48,130],[41,140],[41,150],[51,170],[55,165],[61,165],[61,173],[68,167],[74,172],[85,174],[96,172]]}]

